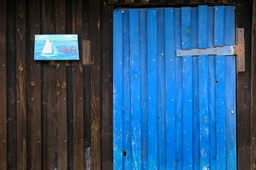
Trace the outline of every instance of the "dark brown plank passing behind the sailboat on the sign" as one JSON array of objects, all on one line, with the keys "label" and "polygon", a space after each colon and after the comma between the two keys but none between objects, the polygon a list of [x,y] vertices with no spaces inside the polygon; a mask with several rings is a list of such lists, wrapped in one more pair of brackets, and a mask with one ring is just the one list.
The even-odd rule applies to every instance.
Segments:
[{"label": "dark brown plank passing behind the sailboat on the sign", "polygon": [[[54,34],[55,1],[42,2],[43,34]],[[58,169],[58,115],[56,62],[44,61],[42,68],[42,164],[43,169]]]}]

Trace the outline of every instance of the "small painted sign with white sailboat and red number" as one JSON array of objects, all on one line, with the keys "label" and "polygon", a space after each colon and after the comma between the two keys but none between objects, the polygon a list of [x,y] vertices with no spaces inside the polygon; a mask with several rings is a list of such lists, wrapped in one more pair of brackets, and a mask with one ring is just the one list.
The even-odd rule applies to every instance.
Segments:
[{"label": "small painted sign with white sailboat and red number", "polygon": [[35,35],[35,60],[79,60],[78,35]]}]

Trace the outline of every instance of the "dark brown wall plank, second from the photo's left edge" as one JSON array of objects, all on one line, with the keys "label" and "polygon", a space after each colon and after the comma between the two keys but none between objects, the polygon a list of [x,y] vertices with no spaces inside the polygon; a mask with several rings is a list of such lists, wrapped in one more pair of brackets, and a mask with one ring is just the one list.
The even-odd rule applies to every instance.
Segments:
[{"label": "dark brown wall plank, second from the photo's left edge", "polygon": [[7,169],[17,169],[16,6],[6,1]]}]

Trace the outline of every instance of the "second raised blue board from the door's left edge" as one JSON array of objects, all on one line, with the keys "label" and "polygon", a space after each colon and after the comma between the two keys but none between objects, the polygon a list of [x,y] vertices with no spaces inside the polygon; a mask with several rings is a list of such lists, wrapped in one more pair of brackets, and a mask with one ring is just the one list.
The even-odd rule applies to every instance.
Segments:
[{"label": "second raised blue board from the door's left edge", "polygon": [[141,96],[139,72],[139,11],[129,11],[132,103],[132,169],[142,169]]}]

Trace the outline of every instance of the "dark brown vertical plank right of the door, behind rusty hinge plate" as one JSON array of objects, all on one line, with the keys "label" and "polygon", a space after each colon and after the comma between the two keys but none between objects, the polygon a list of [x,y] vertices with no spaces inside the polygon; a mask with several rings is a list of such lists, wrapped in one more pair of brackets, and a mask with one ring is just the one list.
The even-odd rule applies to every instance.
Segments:
[{"label": "dark brown vertical plank right of the door, behind rusty hinge plate", "polygon": [[[245,20],[244,18],[247,18]],[[251,37],[252,1],[235,1],[236,28],[245,28],[245,72],[237,73],[238,170],[251,169]]]}]

